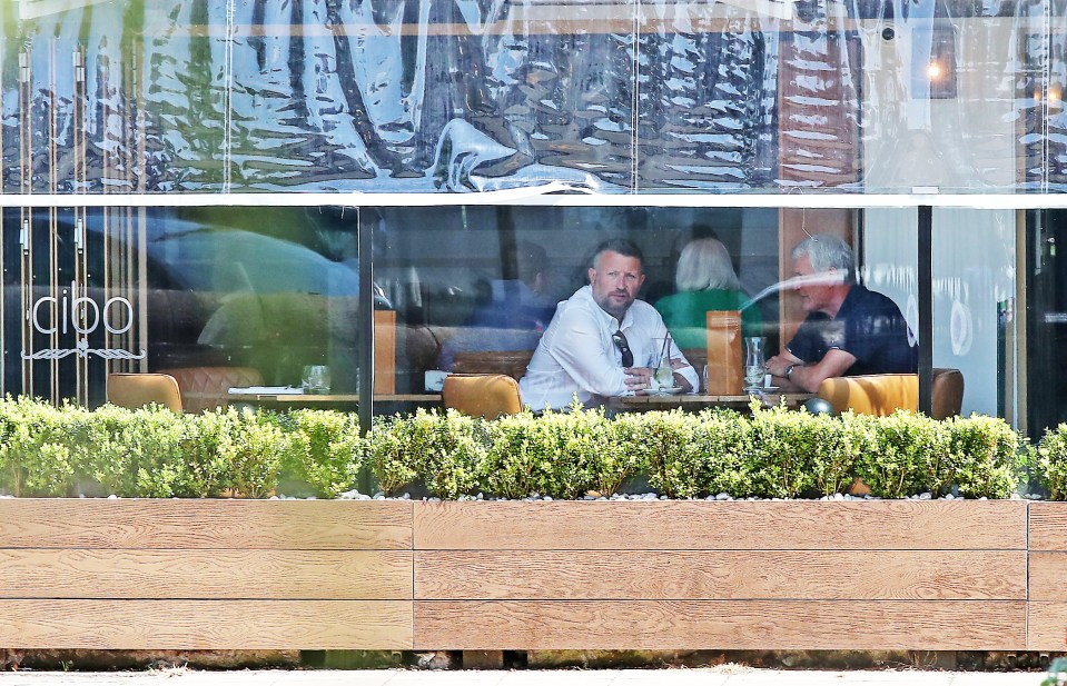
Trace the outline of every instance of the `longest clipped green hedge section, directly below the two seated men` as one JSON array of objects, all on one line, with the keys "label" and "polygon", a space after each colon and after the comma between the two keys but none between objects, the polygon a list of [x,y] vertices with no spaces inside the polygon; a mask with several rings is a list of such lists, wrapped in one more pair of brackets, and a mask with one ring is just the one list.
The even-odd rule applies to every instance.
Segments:
[{"label": "longest clipped green hedge section, directly below the two seated men", "polygon": [[777,407],[753,408],[751,417],[675,410],[612,420],[572,410],[480,421],[417,411],[379,419],[367,459],[387,491],[422,481],[442,498],[478,490],[609,496],[636,475],[676,498],[818,497],[856,477],[885,498],[952,490],[1007,498],[1025,466],[1024,448],[1004,420],[980,416],[830,417]]}]

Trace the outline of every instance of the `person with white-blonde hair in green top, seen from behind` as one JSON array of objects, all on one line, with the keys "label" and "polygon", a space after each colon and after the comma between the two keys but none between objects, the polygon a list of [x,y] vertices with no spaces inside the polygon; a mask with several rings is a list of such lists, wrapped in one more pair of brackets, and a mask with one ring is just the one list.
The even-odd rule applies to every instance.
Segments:
[{"label": "person with white-blonde hair in green top, seen from behind", "polygon": [[741,310],[742,335],[762,335],[760,310],[755,306],[744,308],[749,299],[741,291],[730,253],[714,238],[701,238],[685,246],[678,260],[674,284],[679,292],[661,298],[655,309],[679,348],[708,345],[708,311]]}]

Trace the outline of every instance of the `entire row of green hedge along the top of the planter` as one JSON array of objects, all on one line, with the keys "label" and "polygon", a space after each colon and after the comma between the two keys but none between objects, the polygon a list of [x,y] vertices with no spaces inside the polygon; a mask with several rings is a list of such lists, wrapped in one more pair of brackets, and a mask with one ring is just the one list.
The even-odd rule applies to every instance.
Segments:
[{"label": "entire row of green hedge along the top of the planter", "polygon": [[1067,499],[1067,425],[1029,450],[1001,419],[980,416],[936,421],[754,407],[751,416],[607,419],[575,407],[495,421],[419,410],[377,418],[366,438],[358,428],[355,415],[325,410],[179,416],[9,398],[0,400],[0,491],[264,497],[298,484],[336,497],[364,470],[386,493],[421,485],[442,498],[610,496],[630,479],[676,498],[818,497],[856,477],[885,498],[1006,498],[1033,461],[1041,487]]}]

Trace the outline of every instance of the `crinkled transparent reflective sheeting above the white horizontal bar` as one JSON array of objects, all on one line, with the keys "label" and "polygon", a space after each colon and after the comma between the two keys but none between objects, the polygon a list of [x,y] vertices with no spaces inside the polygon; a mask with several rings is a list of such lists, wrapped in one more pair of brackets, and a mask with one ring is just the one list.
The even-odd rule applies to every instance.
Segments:
[{"label": "crinkled transparent reflective sheeting above the white horizontal bar", "polygon": [[1049,0],[27,0],[0,20],[8,191],[1064,189]]}]

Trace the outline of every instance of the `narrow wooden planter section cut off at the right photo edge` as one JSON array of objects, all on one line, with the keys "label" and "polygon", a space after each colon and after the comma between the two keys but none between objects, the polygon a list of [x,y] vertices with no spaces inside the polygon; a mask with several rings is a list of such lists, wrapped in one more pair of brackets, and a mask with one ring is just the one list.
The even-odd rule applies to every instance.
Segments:
[{"label": "narrow wooden planter section cut off at the right photo edge", "polygon": [[1029,507],[1027,649],[1067,647],[1067,503]]}]

